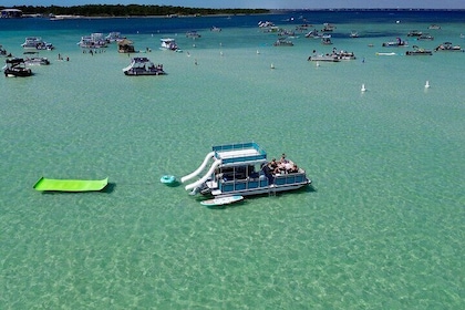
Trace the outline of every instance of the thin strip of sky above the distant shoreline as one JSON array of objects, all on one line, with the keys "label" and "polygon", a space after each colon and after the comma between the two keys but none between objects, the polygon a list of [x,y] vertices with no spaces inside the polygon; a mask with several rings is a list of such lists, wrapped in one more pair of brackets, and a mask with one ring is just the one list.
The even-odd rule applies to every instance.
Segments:
[{"label": "thin strip of sky above the distant shoreline", "polygon": [[465,0],[2,0],[0,6],[154,4],[228,9],[465,9]]}]

